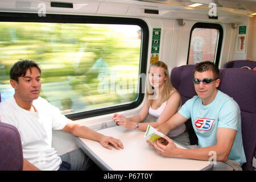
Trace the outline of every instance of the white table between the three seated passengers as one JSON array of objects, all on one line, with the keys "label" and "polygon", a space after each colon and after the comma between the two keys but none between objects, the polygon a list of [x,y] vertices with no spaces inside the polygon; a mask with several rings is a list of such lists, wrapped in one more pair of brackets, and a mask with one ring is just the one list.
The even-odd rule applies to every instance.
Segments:
[{"label": "white table between the three seated passengers", "polygon": [[[125,129],[120,126],[98,130],[98,133],[118,138],[124,149],[112,150],[104,148],[99,142],[77,138],[77,145],[101,169],[109,171],[179,171],[179,170],[210,170],[208,161],[165,157],[149,146],[144,138],[144,132]],[[185,148],[175,143],[177,147]]]}]

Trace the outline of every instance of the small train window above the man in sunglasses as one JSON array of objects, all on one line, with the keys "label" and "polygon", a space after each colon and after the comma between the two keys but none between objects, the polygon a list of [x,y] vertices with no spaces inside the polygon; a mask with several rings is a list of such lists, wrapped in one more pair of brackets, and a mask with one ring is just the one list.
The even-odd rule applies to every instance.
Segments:
[{"label": "small train window above the man in sunglasses", "polygon": [[220,24],[196,23],[191,29],[187,64],[209,60],[218,65],[222,36]]}]

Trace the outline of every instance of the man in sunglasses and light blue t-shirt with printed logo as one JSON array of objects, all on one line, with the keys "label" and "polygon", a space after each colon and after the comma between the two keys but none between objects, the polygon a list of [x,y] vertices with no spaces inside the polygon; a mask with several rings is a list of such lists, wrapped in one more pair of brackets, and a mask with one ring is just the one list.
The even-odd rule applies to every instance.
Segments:
[{"label": "man in sunglasses and light blue t-shirt with printed logo", "polygon": [[[167,146],[159,142],[150,143],[164,156],[212,160],[213,169],[240,170],[246,162],[242,145],[240,108],[233,98],[220,90],[220,71],[210,61],[201,62],[193,71],[194,96],[181,107],[169,121],[158,127],[163,134],[169,133],[181,123],[191,118],[193,129],[197,135],[199,146],[194,149],[177,148],[172,140]],[[224,163],[222,163],[224,162]]]}]

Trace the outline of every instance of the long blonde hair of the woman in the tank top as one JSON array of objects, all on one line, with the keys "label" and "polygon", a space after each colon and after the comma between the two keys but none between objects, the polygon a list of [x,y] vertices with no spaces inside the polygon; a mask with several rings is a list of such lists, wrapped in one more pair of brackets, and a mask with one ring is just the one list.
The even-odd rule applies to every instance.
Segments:
[{"label": "long blonde hair of the woman in the tank top", "polygon": [[[159,94],[162,94],[162,96],[163,96],[162,100],[160,100],[160,102],[158,104],[158,107],[160,107],[163,104],[163,102],[167,101],[168,98],[171,96],[170,92],[172,90],[176,91],[176,89],[171,84],[168,67],[167,67],[167,65],[163,61],[156,61],[155,63],[152,63],[150,65],[150,68],[151,67],[163,68],[164,69],[164,75],[166,76],[166,80],[164,81],[163,92],[159,93]],[[150,73],[150,69],[148,69],[148,73]],[[147,76],[147,92],[146,92],[146,94],[147,94],[147,103],[148,103],[149,106],[152,106],[153,100],[152,99],[148,99],[148,97],[153,96],[155,91],[152,93],[152,92],[150,92],[150,90],[154,90],[154,88],[150,84],[149,77]]]}]

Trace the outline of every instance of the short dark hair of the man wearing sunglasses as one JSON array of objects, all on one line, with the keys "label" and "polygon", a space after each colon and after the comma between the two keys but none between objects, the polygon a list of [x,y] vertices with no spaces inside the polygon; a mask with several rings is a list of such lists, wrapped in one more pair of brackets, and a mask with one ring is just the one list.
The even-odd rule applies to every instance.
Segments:
[{"label": "short dark hair of the man wearing sunglasses", "polygon": [[195,76],[195,72],[206,72],[212,71],[214,78],[220,78],[220,70],[218,67],[210,61],[203,61],[197,64],[196,68],[193,71],[193,75]]}]

